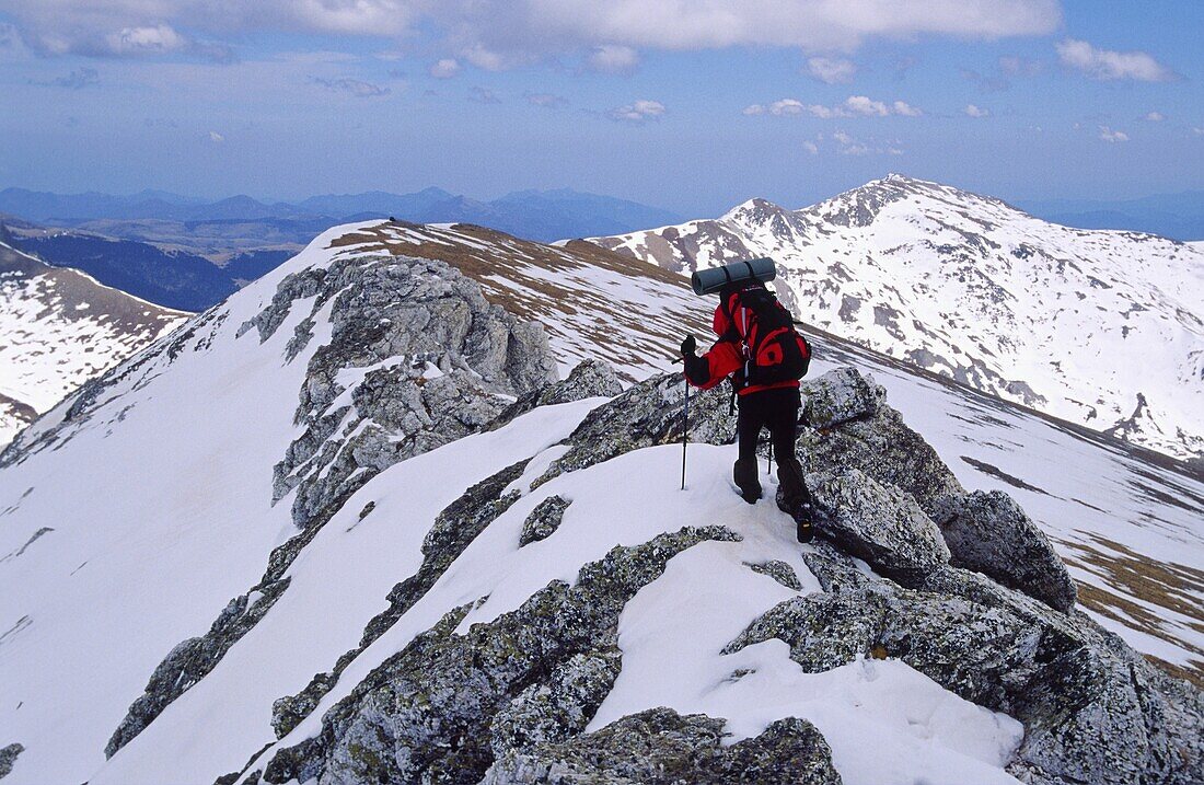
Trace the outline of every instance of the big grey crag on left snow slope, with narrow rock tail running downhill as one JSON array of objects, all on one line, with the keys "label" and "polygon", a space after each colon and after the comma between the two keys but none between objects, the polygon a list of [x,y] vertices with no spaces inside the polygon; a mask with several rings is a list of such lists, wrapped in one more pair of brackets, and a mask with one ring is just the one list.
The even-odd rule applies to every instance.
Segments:
[{"label": "big grey crag on left snow slope, with narrow rock tail running downhill", "polygon": [[[240,335],[255,329],[266,341],[297,307],[309,313],[285,347],[287,360],[313,340],[315,319],[331,325],[300,391],[294,419],[305,430],[275,467],[273,500],[295,492],[293,520],[302,531],[272,551],[260,583],[231,600],[208,633],[178,644],[155,668],[107,756],[254,627],[288,588],[288,566],[352,494],[399,461],[485,429],[515,396],[555,380],[542,327],[490,305],[474,282],[442,261],[353,255],[307,267],[284,278]],[[250,595],[258,600],[248,602]],[[319,674],[311,686],[330,689],[336,678]],[[287,707],[275,721],[287,727],[309,704]]]}]

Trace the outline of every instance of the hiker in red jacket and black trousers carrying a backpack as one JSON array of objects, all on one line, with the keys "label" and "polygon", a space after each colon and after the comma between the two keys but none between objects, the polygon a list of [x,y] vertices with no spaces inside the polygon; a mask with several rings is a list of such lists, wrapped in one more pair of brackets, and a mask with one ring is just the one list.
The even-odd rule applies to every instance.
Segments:
[{"label": "hiker in red jacket and black trousers carrying a backpack", "polygon": [[793,330],[790,312],[751,276],[734,282],[728,277],[719,289],[712,326],[719,340],[702,356],[696,354],[692,335],[681,342],[685,378],[707,390],[731,377],[733,397],[739,401],[739,458],[732,479],[744,501],[755,504],[761,498],[756,444],[761,429],[768,427],[778,459],[778,507],[795,519],[798,542],[810,542],[811,497],[795,454],[798,379],[805,373],[810,348]]}]

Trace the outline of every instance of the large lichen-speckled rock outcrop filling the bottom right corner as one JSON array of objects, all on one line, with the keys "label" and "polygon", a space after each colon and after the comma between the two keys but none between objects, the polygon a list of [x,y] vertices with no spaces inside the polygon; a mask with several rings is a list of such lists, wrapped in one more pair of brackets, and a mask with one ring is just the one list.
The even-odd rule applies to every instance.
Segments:
[{"label": "large lichen-speckled rock outcrop filling the bottom right corner", "polygon": [[1204,697],[1086,615],[956,567],[913,590],[856,569],[832,547],[805,557],[825,594],[778,604],[728,651],[778,638],[814,673],[898,657],[1023,722],[1009,771],[1027,783],[1187,785],[1204,774]]}]

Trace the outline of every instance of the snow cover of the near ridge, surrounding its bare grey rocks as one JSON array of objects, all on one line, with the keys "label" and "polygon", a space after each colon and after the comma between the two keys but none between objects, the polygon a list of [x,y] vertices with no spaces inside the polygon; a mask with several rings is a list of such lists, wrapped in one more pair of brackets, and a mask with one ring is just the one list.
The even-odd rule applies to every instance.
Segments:
[{"label": "snow cover of the near ridge, surrounding its bare grey rocks", "polygon": [[[409,261],[389,259],[402,253]],[[597,397],[541,406],[497,430],[385,461],[362,484],[332,494],[331,517],[295,551],[275,604],[106,761],[111,734],[165,655],[205,635],[231,597],[255,606],[262,591],[252,588],[282,585],[260,577],[277,548],[299,542],[305,484],[282,494],[273,467],[295,458],[308,433],[325,433],[309,445],[325,456],[321,444],[347,451],[337,429],[371,429],[338,407],[368,395],[373,368],[424,365],[412,377],[415,389],[442,378],[432,359],[390,356],[396,325],[376,318],[372,289],[344,285],[344,265],[391,276],[412,268],[415,256],[448,261],[480,282],[489,300],[541,321],[562,368],[601,354],[630,378],[645,378],[667,367],[681,324],[698,331],[707,315],[707,303],[680,279],[595,249],[554,249],[471,226],[370,223],[325,232],[96,389],[64,401],[0,458],[0,693],[8,698],[0,706],[0,748],[24,746],[6,785],[212,783],[315,732],[327,707],[453,608],[488,597],[460,621],[464,632],[513,610],[551,579],[571,583],[583,563],[616,544],[720,521],[744,539],[681,553],[626,607],[622,673],[594,726],[667,704],[725,716],[742,738],[795,714],[824,732],[845,783],[1014,781],[1001,767],[1020,740],[1015,720],[902,662],[805,674],[774,642],[719,654],[755,616],[792,596],[745,563],[780,560],[799,577],[798,592],[818,588],[801,557],[808,549],[792,542],[781,515],[731,494],[733,448],[691,448],[684,494],[675,490],[680,451],[672,447],[635,450],[530,489],[565,454],[557,442],[603,401]],[[362,350],[347,366],[331,365],[327,349],[350,324],[341,309],[360,301],[372,314],[356,344]],[[962,483],[1002,488],[1021,501],[1072,574],[1093,589],[1082,594],[1093,618],[1185,673],[1204,672],[1204,484],[1116,439],[837,338],[818,335],[815,343],[813,374],[837,364],[872,372]],[[315,431],[313,424],[326,420],[308,417],[307,401],[323,395],[332,400],[335,430]],[[521,497],[349,661],[317,710],[260,755],[276,744],[273,702],[297,695],[360,645],[366,625],[388,607],[385,596],[420,569],[424,538],[441,512],[529,459],[510,485]],[[331,459],[317,473],[338,467]],[[561,527],[518,548],[525,519],[554,494],[572,500]],[[1149,567],[1137,577],[1127,568],[1133,557]],[[756,668],[756,678],[714,689],[718,677],[740,667]],[[880,743],[873,756],[864,754],[866,738]]]}]

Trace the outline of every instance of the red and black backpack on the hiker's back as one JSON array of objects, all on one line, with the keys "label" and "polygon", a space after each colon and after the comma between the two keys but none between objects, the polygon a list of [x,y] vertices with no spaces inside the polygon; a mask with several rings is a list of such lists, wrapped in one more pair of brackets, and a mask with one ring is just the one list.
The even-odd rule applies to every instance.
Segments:
[{"label": "red and black backpack on the hiker's back", "polygon": [[[744,368],[733,379],[738,389],[801,379],[811,361],[811,347],[795,330],[795,320],[778,297],[761,284],[742,287],[722,300],[725,315],[744,347]],[[748,324],[738,324],[737,318]]]}]

